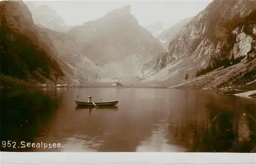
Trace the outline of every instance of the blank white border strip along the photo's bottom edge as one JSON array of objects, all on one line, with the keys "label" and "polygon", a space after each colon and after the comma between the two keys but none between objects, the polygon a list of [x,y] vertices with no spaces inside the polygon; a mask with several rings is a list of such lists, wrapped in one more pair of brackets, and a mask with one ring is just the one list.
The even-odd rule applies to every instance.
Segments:
[{"label": "blank white border strip along the photo's bottom edge", "polygon": [[256,153],[1,152],[1,164],[256,164]]}]

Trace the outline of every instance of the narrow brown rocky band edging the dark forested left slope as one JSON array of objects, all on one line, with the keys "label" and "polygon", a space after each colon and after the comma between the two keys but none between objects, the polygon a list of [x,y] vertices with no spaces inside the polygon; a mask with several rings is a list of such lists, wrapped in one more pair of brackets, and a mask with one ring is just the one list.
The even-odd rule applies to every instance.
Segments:
[{"label": "narrow brown rocky band edging the dark forested left slope", "polygon": [[74,70],[58,56],[58,51],[51,42],[51,38],[45,33],[45,28],[40,28],[33,23],[32,14],[22,1],[10,1],[5,5],[6,22],[11,29],[19,31],[30,39],[35,45],[44,49],[50,57],[57,61],[65,77],[70,79]]}]

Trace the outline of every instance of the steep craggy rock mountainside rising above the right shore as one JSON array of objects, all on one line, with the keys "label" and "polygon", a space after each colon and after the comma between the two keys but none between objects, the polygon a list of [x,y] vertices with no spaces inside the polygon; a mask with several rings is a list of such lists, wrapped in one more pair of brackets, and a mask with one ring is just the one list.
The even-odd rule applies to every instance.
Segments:
[{"label": "steep craggy rock mountainside rising above the right shore", "polygon": [[[169,81],[169,86],[175,86],[184,81],[186,73],[189,78],[193,78],[197,70],[218,66],[218,63],[225,59],[232,63],[232,59],[238,59],[240,52],[244,52],[244,58],[248,54],[253,56],[255,40],[250,43],[250,51],[245,53],[243,46],[239,46],[243,45],[244,41],[239,38],[248,37],[248,33],[243,34],[244,30],[249,29],[251,34],[255,23],[244,26],[245,28],[240,27],[242,32],[238,36],[233,36],[232,33],[238,28],[239,21],[236,18],[241,18],[241,25],[245,24],[246,18],[253,21],[255,9],[256,3],[251,1],[212,1],[205,10],[183,26],[170,42],[167,53],[145,64],[142,71],[146,77],[150,77],[145,81]],[[234,47],[237,46],[238,51],[233,53]],[[250,69],[247,71],[250,72]],[[225,81],[229,81],[229,77],[232,75],[227,76]]]}]

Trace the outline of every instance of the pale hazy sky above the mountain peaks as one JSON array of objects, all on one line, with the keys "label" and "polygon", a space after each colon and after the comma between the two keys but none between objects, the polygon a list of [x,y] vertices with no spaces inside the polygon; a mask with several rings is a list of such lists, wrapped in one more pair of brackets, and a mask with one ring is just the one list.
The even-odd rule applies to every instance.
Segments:
[{"label": "pale hazy sky above the mountain peaks", "polygon": [[147,25],[156,21],[173,24],[195,16],[211,1],[38,1],[38,4],[50,6],[69,25],[97,19],[113,9],[130,4],[131,13],[139,23]]}]

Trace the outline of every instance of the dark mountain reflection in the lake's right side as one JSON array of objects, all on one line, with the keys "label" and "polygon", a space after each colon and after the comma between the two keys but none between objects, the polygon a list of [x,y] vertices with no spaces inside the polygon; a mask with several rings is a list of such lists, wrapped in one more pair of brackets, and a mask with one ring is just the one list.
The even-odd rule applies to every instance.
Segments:
[{"label": "dark mountain reflection in the lake's right side", "polygon": [[[194,99],[195,106],[202,101],[197,95]],[[172,118],[169,131],[189,152],[255,152],[256,106],[251,101],[211,96],[205,108],[194,108],[194,113],[186,106],[181,118]]]}]

